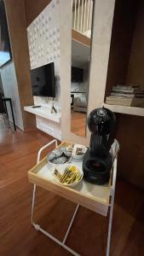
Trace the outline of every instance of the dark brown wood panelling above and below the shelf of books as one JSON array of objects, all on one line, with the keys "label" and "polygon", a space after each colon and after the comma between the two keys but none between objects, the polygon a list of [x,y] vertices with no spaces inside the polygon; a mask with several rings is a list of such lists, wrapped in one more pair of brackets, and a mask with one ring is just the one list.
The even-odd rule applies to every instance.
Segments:
[{"label": "dark brown wood panelling above and below the shelf of books", "polygon": [[[136,4],[138,5],[136,6]],[[107,91],[114,84],[144,85],[144,3],[116,1]],[[144,189],[144,118],[117,114],[118,176]]]}]

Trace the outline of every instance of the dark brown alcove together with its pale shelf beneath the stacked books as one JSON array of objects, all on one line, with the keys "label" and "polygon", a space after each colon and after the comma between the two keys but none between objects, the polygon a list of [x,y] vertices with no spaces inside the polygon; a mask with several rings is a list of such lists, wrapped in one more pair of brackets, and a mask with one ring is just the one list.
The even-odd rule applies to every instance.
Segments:
[{"label": "dark brown alcove together with its pale shelf beneath the stacked books", "polygon": [[117,0],[115,4],[104,106],[116,113],[144,116],[144,108],[106,103],[106,97],[117,84],[140,85],[144,89],[142,7],[142,1]]}]

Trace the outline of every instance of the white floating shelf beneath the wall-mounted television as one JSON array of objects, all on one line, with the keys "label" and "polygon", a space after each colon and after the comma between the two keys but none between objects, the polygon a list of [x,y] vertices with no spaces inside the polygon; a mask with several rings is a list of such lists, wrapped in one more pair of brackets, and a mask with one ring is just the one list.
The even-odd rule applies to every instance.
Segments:
[{"label": "white floating shelf beneath the wall-mounted television", "polygon": [[29,113],[34,113],[35,115],[38,115],[40,117],[43,117],[44,119],[52,120],[56,123],[60,123],[60,113],[49,113],[46,111],[46,108],[40,107],[40,108],[32,108],[32,106],[26,106],[24,107],[24,110]]}]

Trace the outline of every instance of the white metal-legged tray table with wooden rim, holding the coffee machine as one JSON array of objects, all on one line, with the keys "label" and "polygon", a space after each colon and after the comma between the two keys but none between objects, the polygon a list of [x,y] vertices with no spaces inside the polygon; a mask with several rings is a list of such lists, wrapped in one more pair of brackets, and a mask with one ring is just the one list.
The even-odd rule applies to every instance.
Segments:
[{"label": "white metal-legged tray table with wooden rim, holding the coffee machine", "polygon": [[[111,231],[112,231],[112,213],[113,213],[113,206],[114,206],[115,185],[116,185],[116,176],[117,176],[117,155],[118,155],[118,148],[119,148],[118,142],[115,141],[114,147],[112,148],[113,155],[115,156],[115,158],[113,160],[112,172],[109,179],[109,183],[99,186],[99,185],[87,183],[83,179],[82,182],[79,183],[74,188],[65,187],[60,185],[60,183],[56,183],[54,174],[50,172],[50,170],[52,169],[52,166],[48,162],[47,157],[43,158],[43,160],[40,160],[43,149],[49,148],[49,146],[52,145],[53,143],[55,143],[55,148],[67,147],[68,145],[72,144],[72,143],[62,142],[58,146],[57,140],[53,140],[52,142],[46,144],[43,148],[41,148],[38,151],[37,165],[34,166],[28,172],[29,181],[34,184],[33,195],[32,195],[32,217],[31,217],[32,225],[36,230],[41,231],[45,236],[48,236],[50,239],[55,241],[61,247],[64,247],[68,252],[72,253],[75,256],[78,256],[80,254],[76,253],[74,250],[72,250],[72,248],[66,246],[66,239],[72,228],[72,223],[78,212],[79,205],[86,207],[89,210],[92,210],[94,212],[100,213],[105,217],[107,217],[108,209],[110,209],[109,225],[108,225],[108,233],[107,233],[107,256],[109,256]],[[74,164],[73,161],[72,163]],[[75,162],[75,164],[79,165],[79,167],[82,167],[82,161],[79,163],[77,161]],[[60,195],[66,198],[67,200],[78,204],[75,209],[75,212],[73,213],[71,222],[68,226],[68,229],[66,231],[66,235],[63,241],[58,240],[57,238],[55,238],[55,236],[52,236],[51,234],[49,234],[49,232],[47,232],[46,230],[43,230],[43,228],[40,227],[39,224],[36,224],[34,222],[33,212],[34,212],[37,186],[43,189],[47,189],[55,193],[56,195]]]}]

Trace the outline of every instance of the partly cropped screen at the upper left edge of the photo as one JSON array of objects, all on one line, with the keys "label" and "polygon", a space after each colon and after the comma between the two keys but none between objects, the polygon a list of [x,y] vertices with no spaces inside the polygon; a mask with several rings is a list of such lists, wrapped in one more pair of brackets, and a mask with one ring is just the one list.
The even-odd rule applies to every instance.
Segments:
[{"label": "partly cropped screen at the upper left edge of the photo", "polygon": [[0,67],[11,59],[9,32],[3,0],[0,0]]}]

